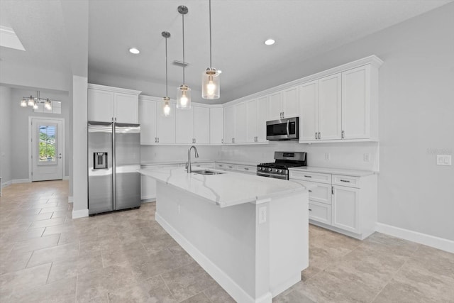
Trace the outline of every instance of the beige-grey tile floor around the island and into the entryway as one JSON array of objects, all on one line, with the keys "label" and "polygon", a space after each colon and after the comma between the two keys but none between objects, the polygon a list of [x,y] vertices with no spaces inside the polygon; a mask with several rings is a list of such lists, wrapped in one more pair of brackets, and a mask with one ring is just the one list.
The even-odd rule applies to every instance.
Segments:
[{"label": "beige-grey tile floor around the island and into the entryway", "polygon": [[[68,182],[4,188],[0,302],[234,302],[154,221],[155,204],[72,219]],[[309,228],[310,266],[273,302],[454,302],[454,254]]]}]

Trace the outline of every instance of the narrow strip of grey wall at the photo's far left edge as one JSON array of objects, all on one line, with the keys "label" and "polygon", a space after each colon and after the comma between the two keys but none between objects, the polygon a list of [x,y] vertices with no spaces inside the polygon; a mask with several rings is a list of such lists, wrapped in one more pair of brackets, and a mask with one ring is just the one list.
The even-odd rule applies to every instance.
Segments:
[{"label": "narrow strip of grey wall at the photo's far left edge", "polygon": [[11,107],[11,88],[0,86],[0,176],[3,184],[12,180]]}]

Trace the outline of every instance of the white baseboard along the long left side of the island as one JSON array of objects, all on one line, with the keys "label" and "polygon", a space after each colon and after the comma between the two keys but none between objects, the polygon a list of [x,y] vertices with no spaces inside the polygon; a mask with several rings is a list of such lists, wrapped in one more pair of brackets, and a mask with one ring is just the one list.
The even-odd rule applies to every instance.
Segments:
[{"label": "white baseboard along the long left side of the island", "polygon": [[221,268],[218,268],[214,263],[206,258],[206,256],[200,252],[195,246],[192,245],[189,241],[187,241],[181,233],[179,233],[175,228],[170,226],[170,224],[165,221],[159,214],[155,213],[155,220],[159,223],[162,228],[167,231],[167,233],[172,236],[172,238],[177,241],[177,243],[186,250],[189,255],[191,255],[194,260],[196,260],[199,265],[206,270],[206,272],[213,277],[216,282],[218,282],[221,287],[228,292],[228,294],[236,300],[236,302],[250,302],[250,303],[267,303],[271,302],[271,293],[268,292],[264,296],[253,299],[250,297],[248,293],[246,293],[243,288],[241,288],[236,282],[234,282],[231,277],[229,277]]}]

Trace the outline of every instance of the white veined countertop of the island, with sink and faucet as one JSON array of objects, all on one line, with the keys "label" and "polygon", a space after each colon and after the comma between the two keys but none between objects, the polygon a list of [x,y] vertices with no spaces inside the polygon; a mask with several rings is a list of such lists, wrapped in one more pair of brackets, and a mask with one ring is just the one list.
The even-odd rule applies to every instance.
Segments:
[{"label": "white veined countertop of the island, with sink and faucet", "polygon": [[303,184],[238,172],[223,172],[220,175],[188,174],[184,167],[143,168],[140,174],[153,177],[199,197],[208,199],[220,207],[233,206],[260,199],[282,197],[284,194],[304,192]]}]

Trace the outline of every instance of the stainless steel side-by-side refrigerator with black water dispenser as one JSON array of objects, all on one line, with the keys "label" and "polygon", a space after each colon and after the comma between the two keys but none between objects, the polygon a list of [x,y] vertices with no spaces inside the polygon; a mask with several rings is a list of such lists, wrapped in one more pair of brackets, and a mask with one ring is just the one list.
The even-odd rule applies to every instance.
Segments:
[{"label": "stainless steel side-by-side refrigerator with black water dispenser", "polygon": [[140,125],[88,122],[88,209],[140,206]]}]

